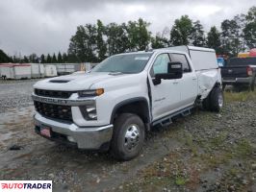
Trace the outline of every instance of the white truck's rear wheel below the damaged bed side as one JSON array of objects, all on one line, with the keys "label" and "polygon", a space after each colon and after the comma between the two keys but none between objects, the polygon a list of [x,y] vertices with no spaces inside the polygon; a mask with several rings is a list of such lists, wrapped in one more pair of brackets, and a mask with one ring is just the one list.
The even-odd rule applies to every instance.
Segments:
[{"label": "white truck's rear wheel below the damaged bed side", "polygon": [[224,96],[221,88],[214,87],[210,94],[211,110],[215,112],[219,112],[223,107],[223,104],[224,104]]}]

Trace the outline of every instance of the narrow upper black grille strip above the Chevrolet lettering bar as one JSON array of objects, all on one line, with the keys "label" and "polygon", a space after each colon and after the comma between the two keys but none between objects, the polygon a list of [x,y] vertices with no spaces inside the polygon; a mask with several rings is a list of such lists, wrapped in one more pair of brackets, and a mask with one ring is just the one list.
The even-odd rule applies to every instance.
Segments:
[{"label": "narrow upper black grille strip above the Chevrolet lettering bar", "polygon": [[54,97],[54,98],[64,98],[67,99],[71,96],[73,91],[62,91],[62,90],[44,90],[44,89],[35,89],[35,93],[38,96],[43,97]]}]

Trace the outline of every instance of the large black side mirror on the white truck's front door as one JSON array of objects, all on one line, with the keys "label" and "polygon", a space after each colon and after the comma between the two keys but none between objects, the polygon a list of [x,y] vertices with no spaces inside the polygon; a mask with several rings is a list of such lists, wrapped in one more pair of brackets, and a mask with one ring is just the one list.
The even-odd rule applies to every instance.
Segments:
[{"label": "large black side mirror on the white truck's front door", "polygon": [[159,73],[155,75],[153,84],[161,84],[161,80],[181,79],[183,68],[181,62],[168,62],[167,73]]}]

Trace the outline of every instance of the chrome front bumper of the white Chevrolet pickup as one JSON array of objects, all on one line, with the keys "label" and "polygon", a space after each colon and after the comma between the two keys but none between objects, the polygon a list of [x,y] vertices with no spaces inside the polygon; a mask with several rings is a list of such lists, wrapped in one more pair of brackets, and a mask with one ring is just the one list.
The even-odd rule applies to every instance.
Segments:
[{"label": "chrome front bumper of the white Chevrolet pickup", "polygon": [[[102,127],[78,127],[74,123],[68,124],[65,122],[54,121],[48,118],[43,117],[38,112],[34,116],[36,132],[37,128],[39,129],[42,125],[48,126],[51,128],[52,132],[59,133],[63,136],[63,140],[66,143],[70,143],[67,137],[70,136],[74,139],[73,144],[76,144],[79,149],[87,150],[99,150],[104,149],[109,145],[112,134],[113,134],[113,125],[107,125]],[[39,132],[37,132],[39,133]],[[50,140],[55,140],[49,138]],[[57,140],[57,139],[56,139]],[[57,140],[58,141],[58,140]]]}]

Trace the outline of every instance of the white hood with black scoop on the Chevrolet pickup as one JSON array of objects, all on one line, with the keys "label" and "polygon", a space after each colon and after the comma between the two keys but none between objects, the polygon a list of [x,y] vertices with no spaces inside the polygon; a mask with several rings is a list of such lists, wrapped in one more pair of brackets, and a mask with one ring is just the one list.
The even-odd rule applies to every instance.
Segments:
[{"label": "white hood with black scoop on the Chevrolet pickup", "polygon": [[124,76],[130,76],[130,74],[111,74],[109,72],[72,74],[39,81],[34,84],[34,88],[65,91],[85,90],[90,89],[92,84],[104,80],[115,80]]}]

